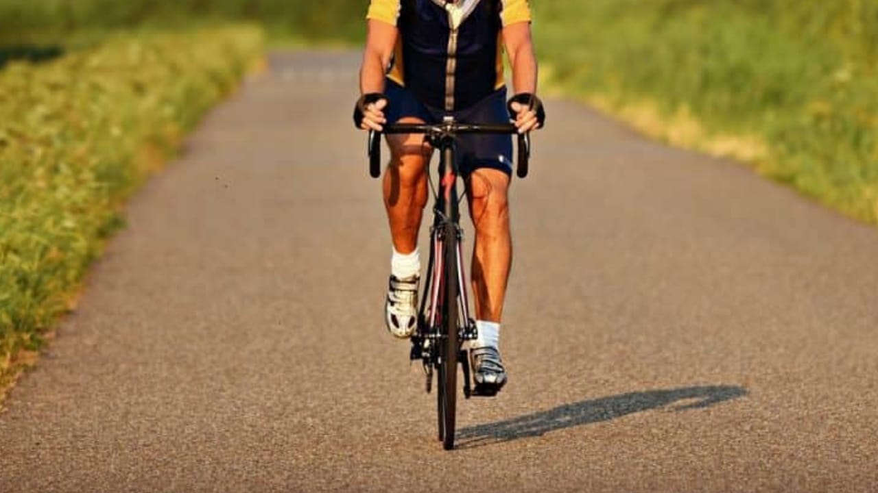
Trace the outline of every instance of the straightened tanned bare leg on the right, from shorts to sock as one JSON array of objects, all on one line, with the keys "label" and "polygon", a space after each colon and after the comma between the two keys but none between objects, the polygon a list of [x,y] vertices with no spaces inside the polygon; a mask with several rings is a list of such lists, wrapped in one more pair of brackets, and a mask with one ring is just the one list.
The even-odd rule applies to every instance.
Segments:
[{"label": "straightened tanned bare leg on the right, from shorts to sock", "polygon": [[500,323],[512,265],[507,202],[509,176],[497,169],[478,169],[470,175],[467,188],[472,224],[476,228],[472,252],[476,318]]}]

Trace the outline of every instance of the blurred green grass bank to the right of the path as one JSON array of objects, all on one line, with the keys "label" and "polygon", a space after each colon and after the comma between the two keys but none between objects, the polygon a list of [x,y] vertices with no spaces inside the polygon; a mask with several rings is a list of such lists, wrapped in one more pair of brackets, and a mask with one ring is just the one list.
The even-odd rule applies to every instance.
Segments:
[{"label": "blurred green grass bank to the right of the path", "polygon": [[565,89],[617,114],[645,101],[669,124],[689,115],[705,130],[695,147],[755,136],[761,173],[878,222],[878,0],[534,6],[541,60]]}]

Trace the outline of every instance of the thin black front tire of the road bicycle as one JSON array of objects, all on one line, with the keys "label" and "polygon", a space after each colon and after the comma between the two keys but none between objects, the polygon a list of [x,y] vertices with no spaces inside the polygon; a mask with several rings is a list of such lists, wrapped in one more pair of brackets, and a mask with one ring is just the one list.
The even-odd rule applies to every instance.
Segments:
[{"label": "thin black front tire of the road bicycle", "polygon": [[443,344],[442,359],[439,363],[439,394],[442,402],[443,448],[454,448],[455,422],[457,420],[457,226],[452,222],[444,225],[443,241],[444,263],[443,277],[445,282],[443,303]]}]

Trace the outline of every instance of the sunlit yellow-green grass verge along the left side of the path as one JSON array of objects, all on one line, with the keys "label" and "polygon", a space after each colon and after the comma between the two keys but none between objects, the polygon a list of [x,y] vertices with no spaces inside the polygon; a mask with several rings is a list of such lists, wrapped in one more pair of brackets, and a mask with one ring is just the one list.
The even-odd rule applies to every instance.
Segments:
[{"label": "sunlit yellow-green grass verge along the left side of the path", "polygon": [[122,200],[262,51],[256,27],[113,35],[0,71],[0,383],[68,309]]}]

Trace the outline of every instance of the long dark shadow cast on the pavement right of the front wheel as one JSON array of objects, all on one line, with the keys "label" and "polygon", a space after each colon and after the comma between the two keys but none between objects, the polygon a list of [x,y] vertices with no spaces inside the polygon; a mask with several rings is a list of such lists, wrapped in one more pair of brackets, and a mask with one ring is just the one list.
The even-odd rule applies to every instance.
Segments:
[{"label": "long dark shadow cast on the pavement right of the front wheel", "polygon": [[679,401],[697,399],[694,403],[675,406],[672,408],[673,411],[702,409],[746,395],[747,391],[743,387],[712,385],[647,390],[601,397],[564,404],[549,411],[539,411],[518,418],[463,428],[457,431],[457,447],[483,447],[515,439],[539,437],[548,432],[622,418],[628,414],[665,407]]}]

